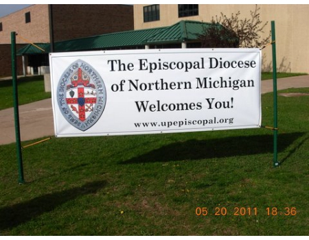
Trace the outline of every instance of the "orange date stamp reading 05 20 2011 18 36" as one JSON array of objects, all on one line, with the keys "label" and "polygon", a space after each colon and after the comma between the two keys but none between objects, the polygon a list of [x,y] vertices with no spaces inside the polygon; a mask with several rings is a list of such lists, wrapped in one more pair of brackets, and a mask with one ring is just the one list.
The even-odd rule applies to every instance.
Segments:
[{"label": "orange date stamp reading 05 20 2011 18 36", "polygon": [[205,206],[198,206],[195,208],[196,216],[257,216],[259,214],[264,214],[266,216],[295,216],[297,215],[297,209],[295,207],[266,207],[266,208],[257,208],[257,207],[244,207],[236,206],[234,208],[227,208],[225,206],[217,206],[215,208],[207,208]]}]

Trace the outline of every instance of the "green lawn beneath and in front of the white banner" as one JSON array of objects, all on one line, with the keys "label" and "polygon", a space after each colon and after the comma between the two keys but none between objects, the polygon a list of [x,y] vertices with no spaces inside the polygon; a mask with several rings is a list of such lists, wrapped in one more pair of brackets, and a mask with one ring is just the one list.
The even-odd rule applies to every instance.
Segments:
[{"label": "green lawn beneath and in front of the white banner", "polygon": [[308,106],[278,96],[278,168],[264,128],[55,138],[23,149],[21,185],[2,145],[0,235],[309,235]]}]

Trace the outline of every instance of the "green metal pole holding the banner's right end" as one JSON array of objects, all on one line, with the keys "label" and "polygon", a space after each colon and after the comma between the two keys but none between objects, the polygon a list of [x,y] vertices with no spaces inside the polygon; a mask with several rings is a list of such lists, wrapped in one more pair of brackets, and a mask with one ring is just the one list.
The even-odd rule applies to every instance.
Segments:
[{"label": "green metal pole holding the banner's right end", "polygon": [[277,60],[276,60],[276,36],[275,36],[275,21],[271,21],[271,40],[273,47],[273,166],[278,167],[278,120],[277,120]]}]

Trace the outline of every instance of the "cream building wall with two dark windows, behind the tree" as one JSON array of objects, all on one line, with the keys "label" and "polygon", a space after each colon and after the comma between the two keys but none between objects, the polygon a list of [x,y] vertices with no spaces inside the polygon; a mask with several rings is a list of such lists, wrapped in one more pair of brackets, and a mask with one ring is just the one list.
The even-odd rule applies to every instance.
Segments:
[{"label": "cream building wall with two dark windows, behind the tree", "polygon": [[[271,31],[275,21],[277,71],[309,73],[309,5],[259,4],[260,20],[267,23],[262,38]],[[240,19],[251,19],[253,4],[135,4],[134,25],[137,29],[163,27],[181,20],[209,22],[221,13],[230,17],[240,11]],[[271,47],[262,51],[263,71],[272,71]]]}]

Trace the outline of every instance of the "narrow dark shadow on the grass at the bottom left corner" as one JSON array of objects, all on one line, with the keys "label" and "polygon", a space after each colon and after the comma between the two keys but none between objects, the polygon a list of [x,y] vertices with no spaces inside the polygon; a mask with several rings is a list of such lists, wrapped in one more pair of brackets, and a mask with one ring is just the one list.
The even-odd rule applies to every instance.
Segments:
[{"label": "narrow dark shadow on the grass at the bottom left corner", "polygon": [[74,200],[82,195],[96,193],[105,186],[105,181],[89,182],[82,187],[50,193],[41,197],[36,197],[27,202],[0,208],[0,232],[1,230],[24,224],[43,213],[53,211],[57,206],[65,204],[65,202]]}]

